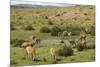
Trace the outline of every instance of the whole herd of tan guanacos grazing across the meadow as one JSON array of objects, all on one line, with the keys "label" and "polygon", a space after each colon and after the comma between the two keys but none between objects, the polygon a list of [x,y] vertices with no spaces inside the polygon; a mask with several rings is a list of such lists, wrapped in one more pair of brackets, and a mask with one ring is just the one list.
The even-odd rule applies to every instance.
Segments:
[{"label": "whole herd of tan guanacos grazing across the meadow", "polygon": [[[58,37],[62,37],[62,39],[66,38],[66,36],[71,37],[72,32],[67,32],[67,31],[63,31],[63,32],[58,32]],[[41,42],[41,39],[37,38],[34,35],[31,35],[29,37],[28,40],[26,40],[25,42],[22,43],[21,47],[24,48],[25,52],[26,52],[26,58],[35,61],[36,60],[36,44],[39,44]],[[73,45],[73,47],[76,46],[76,42],[80,43],[81,45],[86,46],[86,35],[81,35],[77,41],[74,40],[70,40],[69,41],[71,45]],[[60,42],[64,47],[67,46],[67,43],[65,43],[63,40],[61,40]],[[50,54],[51,57],[53,58],[54,61],[56,61],[56,54],[57,54],[57,48],[50,48]],[[44,58],[44,60],[46,61],[46,59]]]}]

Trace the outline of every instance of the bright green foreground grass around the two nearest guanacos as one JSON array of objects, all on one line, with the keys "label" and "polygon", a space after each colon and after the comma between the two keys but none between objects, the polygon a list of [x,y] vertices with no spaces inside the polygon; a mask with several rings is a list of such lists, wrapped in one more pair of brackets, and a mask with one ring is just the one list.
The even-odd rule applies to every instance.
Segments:
[{"label": "bright green foreground grass around the two nearest guanacos", "polygon": [[[11,59],[14,59],[17,64],[15,65],[41,65],[41,64],[52,64],[52,59],[49,52],[49,47],[41,47],[37,48],[37,56],[41,61],[30,61],[25,60],[24,56],[24,50],[22,48],[14,47],[11,48]],[[57,48],[57,46],[56,46]],[[84,50],[81,52],[75,52],[73,56],[68,57],[61,57],[58,56],[58,58],[61,59],[61,61],[57,61],[57,63],[77,63],[77,62],[93,62],[95,61],[95,58],[93,57],[95,55],[94,49]],[[47,62],[44,62],[42,59],[46,58]]]}]

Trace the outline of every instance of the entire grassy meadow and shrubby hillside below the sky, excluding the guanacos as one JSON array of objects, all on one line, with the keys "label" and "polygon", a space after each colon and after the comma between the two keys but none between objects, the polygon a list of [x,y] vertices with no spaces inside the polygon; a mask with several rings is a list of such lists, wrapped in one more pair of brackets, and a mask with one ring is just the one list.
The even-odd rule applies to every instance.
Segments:
[{"label": "entire grassy meadow and shrubby hillside below the sky, excluding the guanacos", "polygon": [[[11,7],[10,29],[11,66],[95,61],[95,6],[93,5],[52,8]],[[64,31],[72,34],[59,37],[58,33]],[[27,59],[24,48],[21,47],[31,35],[41,40],[33,46],[36,48],[37,61]],[[77,46],[73,48],[70,40],[75,41],[82,35],[86,36],[86,47],[80,47],[75,42]],[[70,45],[71,50],[69,48],[63,50],[61,41]],[[51,48],[57,49],[56,61],[51,56]]]}]

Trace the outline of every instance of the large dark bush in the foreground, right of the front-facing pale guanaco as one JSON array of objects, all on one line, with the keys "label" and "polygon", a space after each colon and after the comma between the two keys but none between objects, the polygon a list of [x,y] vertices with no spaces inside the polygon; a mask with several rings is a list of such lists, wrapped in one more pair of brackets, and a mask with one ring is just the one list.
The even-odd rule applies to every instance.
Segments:
[{"label": "large dark bush in the foreground, right of the front-facing pale guanaco", "polygon": [[61,49],[58,50],[58,55],[59,56],[71,56],[73,55],[73,50],[72,48],[69,46],[69,47],[63,47]]}]

